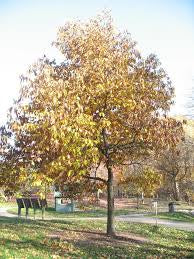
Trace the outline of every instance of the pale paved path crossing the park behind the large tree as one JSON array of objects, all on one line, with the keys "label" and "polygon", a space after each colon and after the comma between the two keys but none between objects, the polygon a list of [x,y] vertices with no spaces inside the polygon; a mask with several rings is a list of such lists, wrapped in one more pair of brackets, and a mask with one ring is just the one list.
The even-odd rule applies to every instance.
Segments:
[{"label": "pale paved path crossing the park behind the large tree", "polygon": [[[0,208],[0,216],[2,217],[10,217],[16,218],[17,216],[7,212],[9,208]],[[45,218],[45,220],[106,220],[106,217],[86,217],[86,218],[74,218],[74,217],[63,217],[63,218]],[[123,222],[136,222],[136,223],[147,223],[147,224],[156,224],[156,218],[148,217],[146,214],[131,214],[131,215],[120,215],[115,217],[116,221],[123,221]],[[158,225],[163,225],[166,227],[174,227],[182,230],[187,231],[194,231],[194,224],[189,222],[179,222],[179,221],[172,221],[166,219],[158,219]]]}]

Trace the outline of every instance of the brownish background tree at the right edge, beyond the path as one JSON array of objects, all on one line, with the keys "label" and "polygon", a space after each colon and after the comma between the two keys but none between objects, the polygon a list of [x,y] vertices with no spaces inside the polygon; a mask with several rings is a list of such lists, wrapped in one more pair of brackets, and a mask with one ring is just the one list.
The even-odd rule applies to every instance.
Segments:
[{"label": "brownish background tree at the right edge, beyond the path", "polygon": [[157,168],[164,174],[166,187],[178,201],[190,193],[194,165],[192,139],[186,139],[176,147],[166,150],[157,161]]}]

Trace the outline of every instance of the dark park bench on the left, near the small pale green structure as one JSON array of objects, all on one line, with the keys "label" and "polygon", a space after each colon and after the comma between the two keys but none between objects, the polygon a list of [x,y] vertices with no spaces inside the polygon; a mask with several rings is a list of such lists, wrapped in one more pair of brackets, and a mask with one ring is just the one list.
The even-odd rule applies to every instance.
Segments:
[{"label": "dark park bench on the left, near the small pale green structure", "polygon": [[36,210],[39,209],[42,211],[42,219],[44,219],[45,208],[47,208],[46,199],[39,198],[17,198],[16,199],[18,205],[18,217],[21,217],[21,209],[26,209],[26,219],[28,218],[28,211],[30,208],[34,210],[34,219],[36,216]]}]

